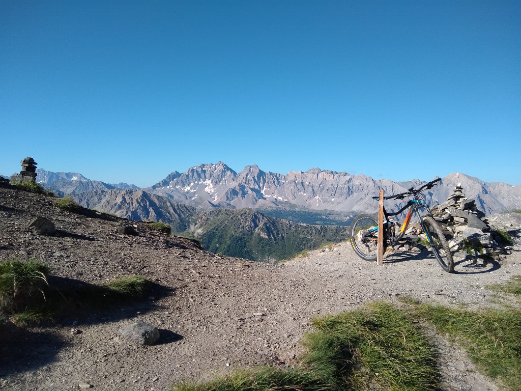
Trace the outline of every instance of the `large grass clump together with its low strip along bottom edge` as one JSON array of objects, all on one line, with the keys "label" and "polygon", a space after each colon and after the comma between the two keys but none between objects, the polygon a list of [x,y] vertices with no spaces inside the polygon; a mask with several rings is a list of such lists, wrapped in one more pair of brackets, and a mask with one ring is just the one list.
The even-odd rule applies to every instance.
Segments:
[{"label": "large grass clump together with its low strip along bottom edge", "polygon": [[405,313],[383,302],[314,320],[296,369],[262,367],[172,391],[435,390],[436,351]]}]

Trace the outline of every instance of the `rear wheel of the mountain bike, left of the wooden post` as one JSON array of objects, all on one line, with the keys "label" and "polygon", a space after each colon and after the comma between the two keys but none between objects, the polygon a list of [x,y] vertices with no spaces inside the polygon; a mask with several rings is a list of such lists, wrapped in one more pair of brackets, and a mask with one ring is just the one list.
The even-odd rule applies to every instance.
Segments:
[{"label": "rear wheel of the mountain bike, left of the wooden post", "polygon": [[[356,255],[366,261],[375,261],[378,255],[378,221],[375,216],[361,214],[351,223],[351,246]],[[383,241],[383,251],[386,250],[386,241]]]}]

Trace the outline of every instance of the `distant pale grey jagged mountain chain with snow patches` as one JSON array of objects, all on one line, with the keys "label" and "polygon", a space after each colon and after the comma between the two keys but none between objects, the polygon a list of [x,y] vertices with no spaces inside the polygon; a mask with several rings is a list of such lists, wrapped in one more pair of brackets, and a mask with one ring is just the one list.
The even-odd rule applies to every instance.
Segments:
[{"label": "distant pale grey jagged mountain chain with snow patches", "polygon": [[[156,185],[144,190],[196,207],[281,209],[292,204],[308,210],[337,212],[374,212],[372,199],[383,189],[386,195],[400,193],[425,182],[393,182],[387,179],[337,173],[313,168],[287,175],[266,173],[258,166],[246,166],[236,173],[226,164],[201,164],[180,174],[173,172]],[[519,209],[521,185],[487,183],[478,178],[455,173],[442,179],[440,186],[426,194],[427,202],[443,202],[452,188],[461,183],[468,198],[476,198],[486,214]],[[391,203],[389,202],[391,206]]]}]

